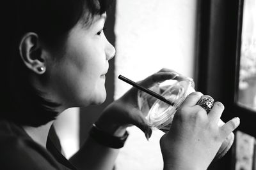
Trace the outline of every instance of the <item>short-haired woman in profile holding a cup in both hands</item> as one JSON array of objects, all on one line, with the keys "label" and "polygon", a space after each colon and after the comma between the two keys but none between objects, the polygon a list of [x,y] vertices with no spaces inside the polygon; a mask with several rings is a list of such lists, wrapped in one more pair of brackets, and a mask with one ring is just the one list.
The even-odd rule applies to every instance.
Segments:
[{"label": "short-haired woman in profile holding a cup in both hands", "polygon": [[[126,127],[136,125],[150,138],[151,129],[131,89],[103,111],[90,138],[69,161],[47,139],[52,122],[71,107],[101,104],[108,60],[115,48],[104,36],[109,1],[17,0],[4,4],[1,77],[0,162],[4,169],[113,169]],[[152,87],[177,78],[162,69],[141,81]],[[223,111],[215,103],[207,115],[195,92],[161,138],[164,169],[206,169],[239,119],[218,127]]]}]

